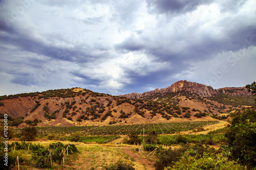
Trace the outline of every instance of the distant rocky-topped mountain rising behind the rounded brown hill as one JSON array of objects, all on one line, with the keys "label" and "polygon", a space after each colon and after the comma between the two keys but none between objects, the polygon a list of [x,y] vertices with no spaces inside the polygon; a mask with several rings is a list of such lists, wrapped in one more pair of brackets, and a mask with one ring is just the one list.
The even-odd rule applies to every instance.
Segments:
[{"label": "distant rocky-topped mountain rising behind the rounded brown hill", "polygon": [[[186,96],[187,99],[196,99],[197,101],[201,101],[206,104],[211,102],[210,105],[215,105],[215,102],[218,102],[218,104],[234,107],[254,106],[253,95],[248,92],[245,87],[225,87],[214,89],[211,86],[188,82],[186,80],[175,82],[171,86],[160,90],[157,88],[153,91],[143,93],[133,92],[120,96],[131,99],[143,99],[173,104],[175,104],[175,100],[177,100],[179,96]],[[176,102],[176,104],[179,104],[179,102]]]}]

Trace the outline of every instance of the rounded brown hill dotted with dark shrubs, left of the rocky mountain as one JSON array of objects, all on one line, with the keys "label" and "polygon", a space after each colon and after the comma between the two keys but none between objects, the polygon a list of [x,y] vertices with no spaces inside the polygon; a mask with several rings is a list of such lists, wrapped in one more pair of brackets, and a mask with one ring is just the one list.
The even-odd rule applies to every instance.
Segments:
[{"label": "rounded brown hill dotted with dark shrubs, left of the rocky mountain", "polygon": [[[0,113],[19,120],[13,126],[83,126],[212,120],[192,116],[199,110],[128,99],[82,88],[1,96]],[[23,117],[24,119],[22,120]],[[21,120],[20,120],[21,119]],[[22,124],[20,124],[22,123]]]}]

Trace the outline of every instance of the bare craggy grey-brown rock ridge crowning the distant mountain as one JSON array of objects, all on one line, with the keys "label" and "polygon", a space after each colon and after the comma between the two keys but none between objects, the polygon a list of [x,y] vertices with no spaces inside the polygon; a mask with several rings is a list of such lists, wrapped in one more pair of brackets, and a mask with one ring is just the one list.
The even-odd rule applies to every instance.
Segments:
[{"label": "bare craggy grey-brown rock ridge crowning the distant mountain", "polygon": [[124,96],[126,98],[132,98],[132,99],[143,99],[145,96],[152,96],[155,94],[168,94],[172,92],[180,92],[180,91],[185,91],[185,92],[190,92],[190,93],[195,93],[202,98],[205,97],[211,97],[213,95],[218,95],[219,91],[212,88],[211,86],[206,86],[203,84],[199,83],[194,83],[194,82],[188,82],[186,80],[181,80],[178,82],[175,82],[169,87],[166,88],[161,88],[160,90],[157,88],[153,91],[147,91],[143,93],[130,93],[130,94],[124,94],[121,96]]}]

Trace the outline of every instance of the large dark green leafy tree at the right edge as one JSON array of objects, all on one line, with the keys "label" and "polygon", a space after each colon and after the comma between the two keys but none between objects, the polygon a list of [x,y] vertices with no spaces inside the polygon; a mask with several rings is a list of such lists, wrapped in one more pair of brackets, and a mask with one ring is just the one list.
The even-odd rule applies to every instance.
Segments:
[{"label": "large dark green leafy tree at the right edge", "polygon": [[236,113],[226,133],[233,159],[256,166],[256,112],[247,109]]}]

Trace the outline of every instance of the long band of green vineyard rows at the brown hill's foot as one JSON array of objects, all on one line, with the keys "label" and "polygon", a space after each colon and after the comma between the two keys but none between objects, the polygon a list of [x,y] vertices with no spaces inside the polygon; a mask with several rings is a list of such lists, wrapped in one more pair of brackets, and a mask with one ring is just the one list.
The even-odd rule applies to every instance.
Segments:
[{"label": "long band of green vineyard rows at the brown hill's foot", "polygon": [[[157,134],[173,134],[181,131],[196,129],[199,127],[217,124],[219,121],[205,122],[180,122],[180,123],[159,123],[159,124],[139,124],[139,125],[115,125],[115,126],[75,126],[75,127],[36,127],[38,135],[47,136],[50,134],[69,135],[80,132],[84,136],[109,136],[109,135],[128,135],[134,132],[138,135],[148,134],[156,131]],[[20,133],[21,129],[15,129]]]}]

